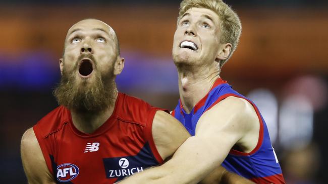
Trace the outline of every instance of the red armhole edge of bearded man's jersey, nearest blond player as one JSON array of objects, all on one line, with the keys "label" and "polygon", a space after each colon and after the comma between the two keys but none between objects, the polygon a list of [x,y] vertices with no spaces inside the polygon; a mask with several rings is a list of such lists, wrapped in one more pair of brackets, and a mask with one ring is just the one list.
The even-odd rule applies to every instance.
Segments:
[{"label": "red armhole edge of bearded man's jersey, nearest blond player", "polygon": [[149,115],[146,120],[146,127],[144,130],[144,134],[146,137],[146,141],[149,143],[149,147],[151,149],[152,154],[156,158],[157,162],[159,164],[161,164],[163,162],[163,159],[161,158],[160,154],[158,153],[154,139],[152,137],[152,122],[154,120],[156,112],[159,110],[160,109],[151,109],[151,111],[149,112]]}]

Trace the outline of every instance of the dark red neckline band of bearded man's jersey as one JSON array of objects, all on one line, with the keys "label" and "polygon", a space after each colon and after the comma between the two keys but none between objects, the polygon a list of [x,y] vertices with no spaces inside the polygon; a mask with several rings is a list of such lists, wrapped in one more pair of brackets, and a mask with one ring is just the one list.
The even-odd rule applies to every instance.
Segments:
[{"label": "dark red neckline band of bearded man's jersey", "polygon": [[112,115],[100,127],[98,127],[91,134],[81,132],[80,130],[78,130],[75,127],[75,125],[73,124],[71,111],[68,110],[68,112],[69,112],[69,125],[70,125],[72,131],[76,135],[78,135],[80,137],[85,137],[85,138],[96,137],[96,136],[101,135],[102,133],[106,132],[109,128],[111,128],[114,125],[114,121],[113,120],[115,118],[117,118],[117,114],[120,111],[120,108],[118,106],[120,105],[120,102],[122,101],[122,97],[121,97],[122,95],[123,95],[122,93],[118,93],[118,96],[117,96],[117,99],[116,99],[116,102],[115,102],[115,107],[114,107],[114,110],[113,110]]}]

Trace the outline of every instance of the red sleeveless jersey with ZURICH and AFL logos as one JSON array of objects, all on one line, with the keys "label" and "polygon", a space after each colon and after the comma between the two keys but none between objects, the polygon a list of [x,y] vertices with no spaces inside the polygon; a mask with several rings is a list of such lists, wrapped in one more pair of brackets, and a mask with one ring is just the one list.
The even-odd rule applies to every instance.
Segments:
[{"label": "red sleeveless jersey with ZURICH and AFL logos", "polygon": [[63,106],[33,130],[57,183],[114,183],[162,163],[151,134],[157,110],[119,93],[112,116],[92,134],[76,129]]}]

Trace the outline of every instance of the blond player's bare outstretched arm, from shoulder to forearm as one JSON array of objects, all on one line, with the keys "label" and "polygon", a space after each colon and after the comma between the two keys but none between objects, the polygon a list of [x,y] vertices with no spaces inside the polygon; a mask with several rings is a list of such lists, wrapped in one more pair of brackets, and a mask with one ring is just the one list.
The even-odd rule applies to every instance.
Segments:
[{"label": "blond player's bare outstretched arm, from shoulder to forearm", "polygon": [[238,98],[223,100],[202,115],[195,136],[189,137],[172,159],[121,183],[198,183],[217,168],[230,149],[252,129],[253,124],[249,123],[255,121],[252,111],[250,104]]}]

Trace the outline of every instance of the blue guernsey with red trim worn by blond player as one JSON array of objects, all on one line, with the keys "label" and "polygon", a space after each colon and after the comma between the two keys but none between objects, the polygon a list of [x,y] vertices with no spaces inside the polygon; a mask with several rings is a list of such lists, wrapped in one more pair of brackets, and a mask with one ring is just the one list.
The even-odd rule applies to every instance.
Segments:
[{"label": "blue guernsey with red trim worn by blond player", "polygon": [[179,100],[179,104],[172,112],[172,115],[177,118],[193,136],[195,135],[196,125],[201,115],[230,96],[243,98],[253,105],[260,122],[260,131],[259,139],[254,150],[250,153],[243,153],[231,149],[222,163],[222,166],[256,183],[285,183],[275,150],[271,146],[269,133],[263,117],[255,104],[233,90],[227,81],[218,78],[214,82],[209,93],[196,104],[189,114],[184,111],[181,101]]}]

